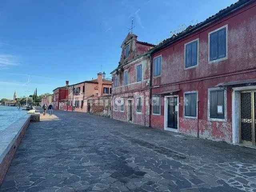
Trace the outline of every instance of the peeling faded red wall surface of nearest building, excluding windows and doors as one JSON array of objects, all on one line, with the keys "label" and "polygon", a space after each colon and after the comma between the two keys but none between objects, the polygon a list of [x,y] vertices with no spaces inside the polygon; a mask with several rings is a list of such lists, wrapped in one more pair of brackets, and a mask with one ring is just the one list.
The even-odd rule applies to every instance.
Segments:
[{"label": "peeling faded red wall surface of nearest building, excluding windows and doors", "polygon": [[[180,90],[179,132],[200,138],[232,142],[232,90],[227,89],[227,122],[208,120],[208,88],[219,83],[255,79],[256,72],[256,3],[250,4],[228,17],[194,32],[153,54],[162,56],[162,74],[152,78],[152,96],[164,91]],[[228,58],[208,62],[208,33],[228,25]],[[199,63],[184,69],[184,44],[199,38]],[[198,91],[198,119],[184,118],[183,94]],[[182,102],[181,102],[182,100]],[[151,115],[150,124],[164,129],[164,95],[161,96],[161,114]],[[199,129],[199,133],[198,133]]]}]

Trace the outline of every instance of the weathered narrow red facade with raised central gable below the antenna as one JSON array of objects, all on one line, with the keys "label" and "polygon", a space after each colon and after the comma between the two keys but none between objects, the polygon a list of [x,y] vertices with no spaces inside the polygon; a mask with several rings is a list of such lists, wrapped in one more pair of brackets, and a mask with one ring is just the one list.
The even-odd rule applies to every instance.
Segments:
[{"label": "weathered narrow red facade with raised central gable below the antenna", "polygon": [[149,126],[150,54],[154,45],[128,33],[118,67],[112,74],[112,118]]}]

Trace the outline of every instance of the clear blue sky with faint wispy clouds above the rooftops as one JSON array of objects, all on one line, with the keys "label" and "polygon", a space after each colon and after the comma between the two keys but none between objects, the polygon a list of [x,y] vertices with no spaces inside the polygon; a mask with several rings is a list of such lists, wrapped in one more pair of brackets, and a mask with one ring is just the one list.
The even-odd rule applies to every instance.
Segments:
[{"label": "clear blue sky with faint wispy clouds above the rooftops", "polygon": [[0,98],[52,92],[106,77],[120,59],[120,45],[134,17],[138,40],[157,44],[235,0],[1,0]]}]

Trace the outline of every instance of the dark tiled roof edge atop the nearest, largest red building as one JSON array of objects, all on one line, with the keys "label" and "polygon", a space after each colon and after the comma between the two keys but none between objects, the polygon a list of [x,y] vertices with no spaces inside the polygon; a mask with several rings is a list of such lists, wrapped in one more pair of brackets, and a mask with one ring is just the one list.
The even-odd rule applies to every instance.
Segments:
[{"label": "dark tiled roof edge atop the nearest, largest red building", "polygon": [[224,16],[231,14],[232,12],[234,12],[252,2],[255,2],[255,0],[239,0],[238,2],[231,4],[227,8],[220,10],[215,15],[210,16],[206,20],[204,20],[196,25],[193,25],[193,26],[190,25],[182,32],[177,33],[176,35],[174,34],[171,38],[167,38],[167,39],[163,40],[155,48],[153,48],[151,52],[155,52],[155,51],[159,50],[160,48],[163,48],[163,47],[171,44],[172,42],[176,42],[177,40],[183,38],[184,36],[187,36],[187,35],[191,34],[192,32],[195,32],[195,31],[211,24],[212,22],[215,22],[216,20],[219,20],[219,19],[223,18]]}]

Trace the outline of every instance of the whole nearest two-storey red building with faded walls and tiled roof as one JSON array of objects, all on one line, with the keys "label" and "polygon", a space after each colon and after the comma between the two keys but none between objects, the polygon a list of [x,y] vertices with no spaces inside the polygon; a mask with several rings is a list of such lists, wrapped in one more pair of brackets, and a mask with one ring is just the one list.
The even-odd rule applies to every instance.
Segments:
[{"label": "whole nearest two-storey red building with faded walls and tiled roof", "polygon": [[150,126],[255,146],[255,0],[189,26],[151,54]]}]

